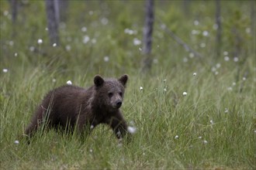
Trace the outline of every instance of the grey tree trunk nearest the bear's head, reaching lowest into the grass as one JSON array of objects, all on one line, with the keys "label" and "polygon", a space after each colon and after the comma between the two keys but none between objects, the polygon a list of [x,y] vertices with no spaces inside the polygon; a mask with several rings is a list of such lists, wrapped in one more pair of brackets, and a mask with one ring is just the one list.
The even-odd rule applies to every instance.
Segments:
[{"label": "grey tree trunk nearest the bear's head, reaching lowest into the grass", "polygon": [[146,20],[144,25],[144,39],[142,53],[143,59],[143,71],[150,70],[152,64],[151,46],[152,46],[152,33],[154,26],[154,0],[146,1]]}]

